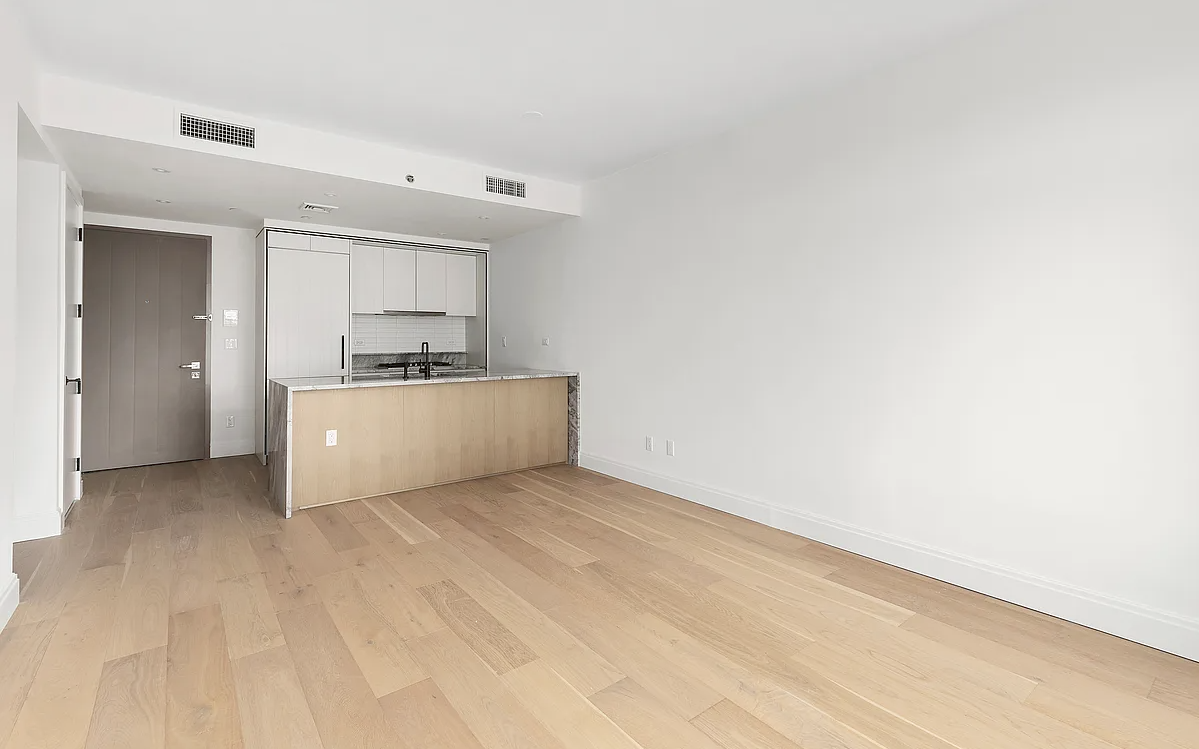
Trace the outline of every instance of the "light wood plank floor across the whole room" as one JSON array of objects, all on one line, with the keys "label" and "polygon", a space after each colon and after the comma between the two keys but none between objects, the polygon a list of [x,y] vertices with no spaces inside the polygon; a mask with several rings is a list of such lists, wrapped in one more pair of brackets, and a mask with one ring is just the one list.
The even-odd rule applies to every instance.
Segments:
[{"label": "light wood plank floor across the whole room", "polygon": [[265,481],[89,475],[16,550],[0,744],[1199,747],[1199,664],[578,469]]}]

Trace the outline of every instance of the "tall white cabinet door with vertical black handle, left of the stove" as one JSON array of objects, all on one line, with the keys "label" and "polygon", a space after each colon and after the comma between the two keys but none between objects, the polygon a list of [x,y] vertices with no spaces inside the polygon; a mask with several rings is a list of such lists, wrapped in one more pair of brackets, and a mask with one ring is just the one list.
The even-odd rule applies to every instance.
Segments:
[{"label": "tall white cabinet door with vertical black handle, left of the stove", "polygon": [[350,256],[272,248],[266,264],[266,376],[349,372]]}]

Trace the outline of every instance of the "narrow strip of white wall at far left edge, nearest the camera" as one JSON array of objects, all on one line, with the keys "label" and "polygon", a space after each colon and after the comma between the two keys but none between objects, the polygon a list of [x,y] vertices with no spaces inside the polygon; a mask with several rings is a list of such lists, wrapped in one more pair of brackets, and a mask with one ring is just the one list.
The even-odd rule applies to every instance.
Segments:
[{"label": "narrow strip of white wall at far left edge, nearest the camera", "polygon": [[17,608],[12,574],[13,465],[17,435],[17,111],[36,121],[34,58],[24,19],[0,0],[0,626]]}]

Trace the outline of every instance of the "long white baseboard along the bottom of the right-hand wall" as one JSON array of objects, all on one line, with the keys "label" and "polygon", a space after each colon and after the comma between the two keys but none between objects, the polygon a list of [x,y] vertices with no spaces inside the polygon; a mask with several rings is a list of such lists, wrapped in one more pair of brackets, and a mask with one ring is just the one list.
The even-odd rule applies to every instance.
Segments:
[{"label": "long white baseboard along the bottom of the right-hand wall", "polygon": [[1199,620],[1048,580],[944,549],[878,533],[800,509],[736,496],[719,489],[662,476],[598,455],[583,454],[579,463],[583,467],[600,473],[789,531],[805,538],[910,569],[929,578],[936,578],[1183,658],[1199,660]]}]

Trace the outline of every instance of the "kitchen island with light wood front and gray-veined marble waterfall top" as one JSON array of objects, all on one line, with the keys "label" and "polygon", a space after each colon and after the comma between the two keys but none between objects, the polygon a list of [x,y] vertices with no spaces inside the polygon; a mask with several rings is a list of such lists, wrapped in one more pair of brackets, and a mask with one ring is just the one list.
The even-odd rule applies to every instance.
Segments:
[{"label": "kitchen island with light wood front and gray-veined marble waterfall top", "polygon": [[[270,380],[270,497],[293,511],[578,465],[578,373]],[[329,445],[329,442],[336,442]]]}]

